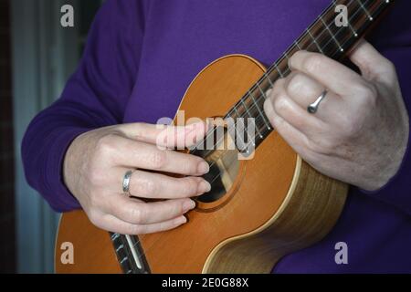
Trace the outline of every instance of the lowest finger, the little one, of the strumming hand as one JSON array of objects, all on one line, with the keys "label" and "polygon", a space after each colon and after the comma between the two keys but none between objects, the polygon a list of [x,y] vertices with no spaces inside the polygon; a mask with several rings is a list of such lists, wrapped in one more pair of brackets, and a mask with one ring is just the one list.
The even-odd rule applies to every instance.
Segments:
[{"label": "lowest finger, the little one, of the strumming hand", "polygon": [[100,220],[99,227],[121,235],[145,235],[170,230],[186,222],[187,219],[184,216],[178,216],[155,224],[130,224],[111,214],[105,214]]}]

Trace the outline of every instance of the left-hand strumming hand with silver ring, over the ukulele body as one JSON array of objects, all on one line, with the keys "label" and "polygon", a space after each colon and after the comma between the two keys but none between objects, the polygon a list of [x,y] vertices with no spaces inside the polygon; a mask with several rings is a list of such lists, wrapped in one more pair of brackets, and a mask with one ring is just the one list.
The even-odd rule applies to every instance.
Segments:
[{"label": "left-hand strumming hand with silver ring, over the ukulele body", "polygon": [[[169,148],[189,146],[203,138],[206,128],[196,123],[161,130],[155,125],[133,123],[91,130],[69,146],[64,181],[90,221],[102,229],[142,235],[177,227],[186,222],[184,214],[195,207],[189,198],[210,189],[209,183],[197,177],[208,172],[208,164]],[[160,146],[167,149],[161,150]],[[138,169],[132,173],[133,196],[167,200],[144,203],[124,195],[123,176],[133,169]],[[186,176],[177,178],[144,170]]]}]

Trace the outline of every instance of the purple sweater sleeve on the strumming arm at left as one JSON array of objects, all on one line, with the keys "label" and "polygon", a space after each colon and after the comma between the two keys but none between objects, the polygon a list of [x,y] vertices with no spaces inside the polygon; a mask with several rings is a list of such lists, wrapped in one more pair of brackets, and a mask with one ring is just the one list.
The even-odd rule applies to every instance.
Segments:
[{"label": "purple sweater sleeve on the strumming arm at left", "polygon": [[71,141],[123,119],[138,74],[143,24],[139,0],[106,1],[91,26],[79,68],[61,97],[26,130],[21,149],[26,180],[58,212],[80,207],[62,178]]}]

